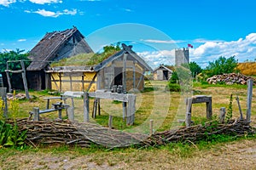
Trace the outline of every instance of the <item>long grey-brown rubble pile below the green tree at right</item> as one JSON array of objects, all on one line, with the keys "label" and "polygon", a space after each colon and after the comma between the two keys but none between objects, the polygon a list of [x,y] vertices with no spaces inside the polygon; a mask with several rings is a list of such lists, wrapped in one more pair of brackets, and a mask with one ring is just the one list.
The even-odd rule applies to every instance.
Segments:
[{"label": "long grey-brown rubble pile below the green tree at right", "polygon": [[[253,77],[247,77],[242,74],[230,73],[230,74],[223,74],[223,75],[215,75],[213,77],[207,78],[207,82],[209,84],[218,84],[218,83],[225,83],[228,85],[232,84],[242,84],[246,85],[248,79],[253,79]],[[255,83],[256,80],[253,79]]]}]

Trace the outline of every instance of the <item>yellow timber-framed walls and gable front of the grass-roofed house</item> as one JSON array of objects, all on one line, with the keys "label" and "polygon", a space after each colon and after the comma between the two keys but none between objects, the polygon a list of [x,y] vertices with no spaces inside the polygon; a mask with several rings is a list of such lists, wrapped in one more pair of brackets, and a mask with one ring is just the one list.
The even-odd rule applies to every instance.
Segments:
[{"label": "yellow timber-framed walls and gable front of the grass-roofed house", "polygon": [[144,73],[151,67],[131,46],[122,44],[123,49],[103,60],[98,65],[61,66],[46,71],[51,78],[51,89],[59,91],[111,90],[113,85],[121,85],[125,91],[131,88],[143,90]]}]

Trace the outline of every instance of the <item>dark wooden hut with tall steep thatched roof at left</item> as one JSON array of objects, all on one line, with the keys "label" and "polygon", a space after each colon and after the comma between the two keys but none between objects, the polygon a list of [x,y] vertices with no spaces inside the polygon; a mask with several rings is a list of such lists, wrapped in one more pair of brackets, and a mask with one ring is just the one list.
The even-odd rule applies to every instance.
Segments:
[{"label": "dark wooden hut with tall steep thatched roof at left", "polygon": [[29,88],[49,88],[51,78],[49,74],[45,74],[45,70],[48,70],[50,62],[82,53],[93,51],[76,27],[46,33],[29,53],[29,58],[32,59],[31,65],[26,68]]}]

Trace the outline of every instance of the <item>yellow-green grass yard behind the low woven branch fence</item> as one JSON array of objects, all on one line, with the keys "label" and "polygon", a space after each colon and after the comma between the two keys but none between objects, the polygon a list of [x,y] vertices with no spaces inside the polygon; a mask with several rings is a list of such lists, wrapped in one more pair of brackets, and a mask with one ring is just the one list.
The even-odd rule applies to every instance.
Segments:
[{"label": "yellow-green grass yard behind the low woven branch fence", "polygon": [[[102,126],[108,126],[108,116],[113,115],[113,127],[120,130],[142,130],[142,133],[148,133],[149,120],[154,120],[154,129],[156,131],[168,130],[172,127],[181,125],[177,120],[185,118],[185,97],[191,95],[208,95],[212,96],[212,112],[213,116],[218,116],[221,107],[228,108],[230,103],[230,95],[233,94],[233,117],[240,116],[238,105],[236,103],[236,96],[239,97],[241,103],[241,110],[243,115],[246,115],[247,110],[247,86],[243,85],[201,85],[200,82],[194,83],[193,91],[189,94],[181,94],[177,92],[166,91],[166,82],[151,81],[146,82],[145,92],[137,93],[136,114],[134,126],[126,126],[122,118],[122,103],[114,102],[109,99],[101,99],[101,116],[96,116],[96,119],[90,118],[90,122],[99,123]],[[29,111],[33,107],[39,107],[40,110],[45,109],[45,97],[49,97],[47,92],[30,92],[33,96],[32,101],[20,100],[19,111],[15,117],[28,117]],[[256,101],[255,89],[253,89],[253,104],[252,104],[252,120],[255,122],[256,115]],[[58,99],[51,100],[51,103],[59,101]],[[71,105],[68,99],[67,103]],[[90,99],[90,113],[92,111],[93,99]],[[83,99],[74,99],[74,115],[75,120],[83,122]],[[65,111],[63,111],[65,117]],[[90,114],[91,116],[91,114]],[[57,112],[50,112],[42,115],[42,118],[57,118]],[[192,120],[199,124],[206,121],[206,105],[196,104],[192,107]],[[131,131],[131,130],[130,130]]]}]

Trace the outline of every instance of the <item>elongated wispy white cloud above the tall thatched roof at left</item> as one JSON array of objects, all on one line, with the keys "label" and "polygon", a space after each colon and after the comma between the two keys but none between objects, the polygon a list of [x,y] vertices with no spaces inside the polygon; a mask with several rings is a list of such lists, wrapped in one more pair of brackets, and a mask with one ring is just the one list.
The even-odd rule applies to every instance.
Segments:
[{"label": "elongated wispy white cloud above the tall thatched roof at left", "polygon": [[77,14],[77,9],[75,9],[75,8],[73,10],[64,9],[62,12],[60,12],[60,11],[53,12],[53,11],[47,11],[43,8],[43,9],[38,9],[37,11],[25,10],[24,12],[26,12],[26,13],[36,13],[36,14],[41,14],[42,16],[45,16],[45,17],[54,17],[54,18],[56,18],[56,17],[58,17],[60,15],[63,15],[63,14],[75,15],[75,14]]}]

